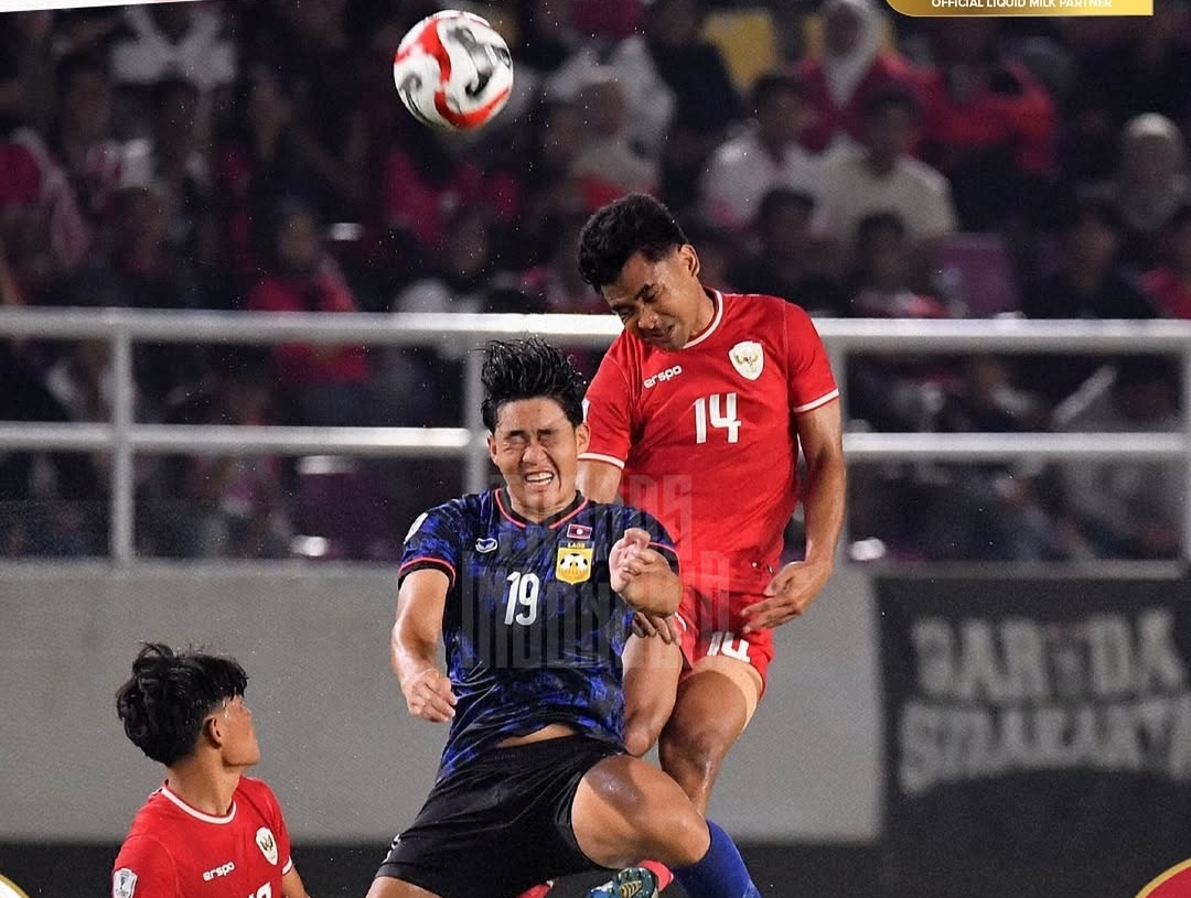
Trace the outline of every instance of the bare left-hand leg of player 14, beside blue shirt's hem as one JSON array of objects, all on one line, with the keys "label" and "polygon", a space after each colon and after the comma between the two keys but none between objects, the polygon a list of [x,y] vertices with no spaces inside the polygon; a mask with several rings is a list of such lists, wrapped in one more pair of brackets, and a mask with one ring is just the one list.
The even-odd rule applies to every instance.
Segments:
[{"label": "bare left-hand leg of player 14, beside blue shirt's hem", "polygon": [[657,741],[674,709],[682,649],[659,636],[630,636],[624,665],[624,747],[641,756]]}]

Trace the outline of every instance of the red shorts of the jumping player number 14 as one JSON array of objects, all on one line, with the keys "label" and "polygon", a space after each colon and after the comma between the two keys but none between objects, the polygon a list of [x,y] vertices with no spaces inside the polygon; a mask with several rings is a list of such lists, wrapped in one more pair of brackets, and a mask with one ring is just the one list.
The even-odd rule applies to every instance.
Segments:
[{"label": "red shorts of the jumping player number 14", "polygon": [[[685,666],[707,655],[728,655],[753,666],[761,674],[761,693],[765,693],[769,661],[773,660],[773,630],[754,630],[742,635],[746,617],[741,609],[756,604],[765,596],[752,592],[721,594],[715,597],[694,586],[684,585],[679,603],[679,629]],[[684,671],[685,673],[690,672]]]}]

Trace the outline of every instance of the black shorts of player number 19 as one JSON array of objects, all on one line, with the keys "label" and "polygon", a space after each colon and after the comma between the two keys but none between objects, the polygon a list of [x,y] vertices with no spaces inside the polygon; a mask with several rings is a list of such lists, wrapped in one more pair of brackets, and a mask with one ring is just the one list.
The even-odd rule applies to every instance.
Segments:
[{"label": "black shorts of player number 19", "polygon": [[442,898],[517,898],[547,879],[601,869],[579,849],[570,804],[611,742],[563,736],[486,752],[435,784],[376,872]]}]

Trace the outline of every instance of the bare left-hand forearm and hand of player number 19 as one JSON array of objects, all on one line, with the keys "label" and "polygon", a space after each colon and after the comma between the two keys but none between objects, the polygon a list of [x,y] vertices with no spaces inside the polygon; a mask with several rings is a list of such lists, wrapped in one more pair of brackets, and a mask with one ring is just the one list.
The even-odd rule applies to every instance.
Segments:
[{"label": "bare left-hand forearm and hand of player number 19", "polygon": [[436,569],[406,574],[397,596],[397,623],[389,646],[393,672],[410,714],[432,723],[455,716],[455,692],[437,662],[448,585],[447,574]]}]

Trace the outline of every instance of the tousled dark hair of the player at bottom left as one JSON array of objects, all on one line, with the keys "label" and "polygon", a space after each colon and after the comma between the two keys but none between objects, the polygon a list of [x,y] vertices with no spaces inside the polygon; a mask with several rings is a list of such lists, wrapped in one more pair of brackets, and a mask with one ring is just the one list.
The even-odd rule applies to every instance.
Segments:
[{"label": "tousled dark hair of the player at bottom left", "polygon": [[116,692],[116,712],[132,743],[170,767],[194,753],[206,716],[247,686],[233,658],[145,642],[132,677]]}]

